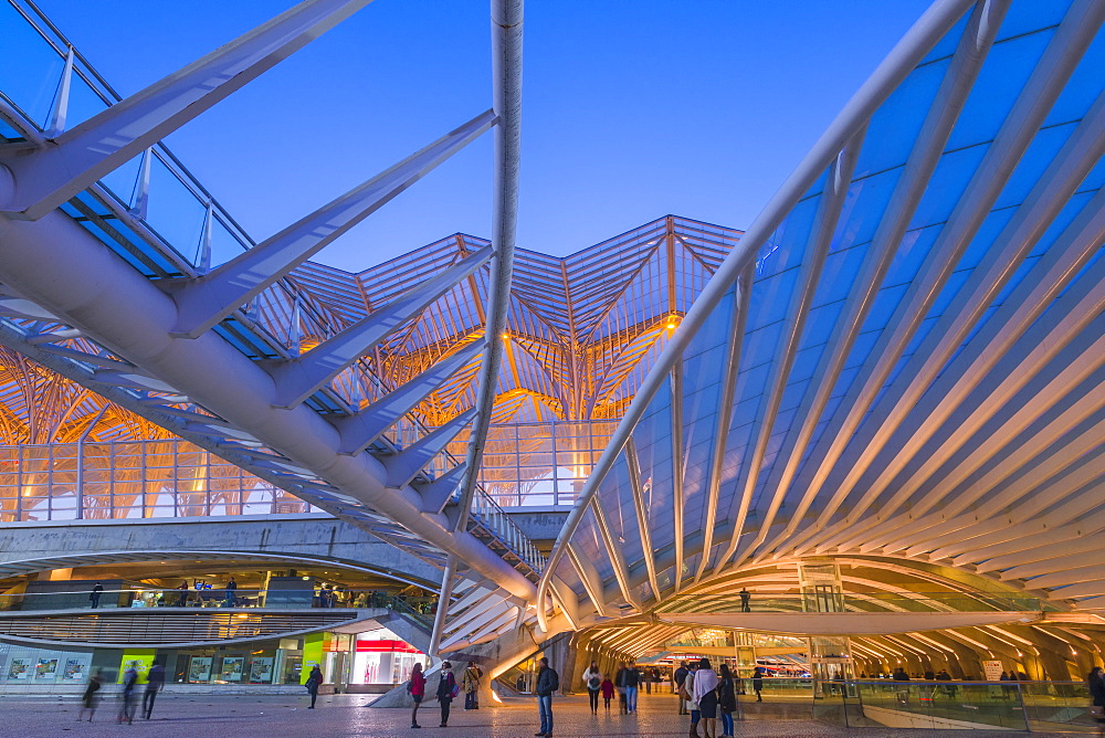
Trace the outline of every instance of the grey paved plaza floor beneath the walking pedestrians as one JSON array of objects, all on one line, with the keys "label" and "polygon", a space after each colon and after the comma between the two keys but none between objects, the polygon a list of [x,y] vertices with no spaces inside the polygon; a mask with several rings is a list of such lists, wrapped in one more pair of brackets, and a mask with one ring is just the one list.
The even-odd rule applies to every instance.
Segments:
[{"label": "grey paved plaza floor beneath the walking pedestrians", "polygon": [[[306,694],[297,696],[211,696],[161,695],[154,719],[136,719],[134,725],[118,725],[118,703],[106,696],[93,723],[77,723],[80,705],[72,697],[0,697],[0,736],[130,736],[158,738],[204,738],[241,736],[277,738],[304,736],[335,738],[364,736],[390,738],[527,738],[538,728],[537,708],[530,702],[517,702],[477,711],[453,711],[448,728],[439,728],[440,713],[431,702],[419,711],[421,730],[410,728],[410,713],[403,709],[372,708],[371,695],[320,696],[316,709],[306,709]],[[462,703],[463,704],[463,703]],[[597,736],[686,736],[687,718],[675,714],[671,695],[642,695],[635,715],[591,716],[586,697],[564,697],[556,702],[554,734],[564,738]],[[884,728],[845,728],[817,720],[748,719],[737,724],[737,736],[755,738],[945,738],[1009,736],[997,731],[896,730]],[[1063,734],[1032,734],[1063,735]],[[1067,734],[1069,735],[1069,734]]]}]

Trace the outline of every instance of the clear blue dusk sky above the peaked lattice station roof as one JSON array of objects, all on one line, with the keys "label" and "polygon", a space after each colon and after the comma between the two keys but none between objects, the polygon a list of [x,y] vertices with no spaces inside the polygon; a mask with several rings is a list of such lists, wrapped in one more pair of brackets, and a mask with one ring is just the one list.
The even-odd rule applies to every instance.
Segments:
[{"label": "clear blue dusk sky above the peaked lattice station roof", "polygon": [[[40,0],[124,95],[288,0]],[[518,245],[667,213],[744,228],[924,0],[530,0]],[[157,12],[150,12],[157,8]],[[256,239],[491,105],[486,0],[377,0],[168,144]],[[317,257],[359,271],[491,234],[485,135]]]}]

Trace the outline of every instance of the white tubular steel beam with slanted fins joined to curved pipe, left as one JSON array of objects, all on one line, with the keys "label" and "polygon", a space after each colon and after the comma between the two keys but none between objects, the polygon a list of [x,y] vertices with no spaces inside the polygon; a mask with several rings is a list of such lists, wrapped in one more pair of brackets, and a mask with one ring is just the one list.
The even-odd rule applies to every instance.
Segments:
[{"label": "white tubular steel beam with slanted fins joined to curved pipe, left", "polygon": [[[95,188],[96,181],[136,155],[144,155],[148,172],[150,147],[214,103],[278,61],[368,4],[369,0],[305,0],[273,21],[246,33],[169,75],[145,91],[108,107],[69,130],[62,104],[48,135],[28,136],[25,144],[0,147],[0,251],[6,288],[33,304],[62,326],[45,340],[57,344],[72,335],[95,339],[124,359],[119,371],[83,376],[77,381],[112,384],[127,390],[149,388],[164,393],[150,404],[161,412],[188,417],[194,435],[210,436],[234,453],[278,476],[314,479],[298,487],[311,502],[324,495],[323,506],[355,524],[379,514],[408,531],[464,561],[466,576],[496,582],[515,598],[532,600],[535,588],[516,566],[504,560],[470,533],[467,509],[445,509],[456,495],[464,465],[438,479],[417,482],[420,463],[440,452],[452,435],[471,421],[450,424],[410,449],[379,455],[364,449],[428,392],[436,389],[462,363],[484,347],[474,342],[445,357],[423,376],[368,408],[332,422],[303,404],[312,391],[328,383],[366,351],[383,340],[428,302],[467,278],[493,257],[492,250],[469,256],[438,278],[420,285],[330,341],[297,357],[259,363],[232,347],[212,328],[234,314],[262,289],[388,200],[463,148],[484,131],[496,128],[496,222],[494,244],[496,285],[508,299],[511,254],[517,218],[517,167],[520,135],[522,3],[493,3],[495,46],[495,109],[483,113],[446,134],[365,184],[288,226],[239,257],[209,270],[210,239],[201,239],[201,266],[193,276],[175,283],[154,283],[105,250],[57,207]],[[62,96],[62,103],[64,103]],[[499,112],[506,112],[501,117]],[[499,128],[499,126],[505,126]],[[141,214],[148,173],[139,176],[135,208]],[[148,187],[148,184],[146,186]],[[209,205],[209,217],[210,217]],[[502,245],[505,244],[505,245]],[[43,263],[57,270],[43,270]],[[90,275],[94,275],[90,278]],[[72,333],[77,331],[77,333]],[[11,333],[8,336],[8,333]],[[15,348],[27,349],[33,337],[6,331]],[[496,336],[497,339],[497,336]],[[488,341],[491,355],[498,340]],[[81,357],[84,359],[85,357]],[[92,360],[92,359],[88,359]],[[486,362],[485,362],[486,363]],[[494,384],[494,377],[488,382]],[[171,408],[183,403],[202,413]],[[452,435],[450,435],[452,433]],[[484,431],[485,433],[485,431]],[[210,443],[208,445],[211,445]],[[287,484],[287,481],[284,481]],[[337,504],[327,505],[326,499]],[[464,503],[472,502],[472,491]],[[503,541],[528,544],[518,536]]]}]

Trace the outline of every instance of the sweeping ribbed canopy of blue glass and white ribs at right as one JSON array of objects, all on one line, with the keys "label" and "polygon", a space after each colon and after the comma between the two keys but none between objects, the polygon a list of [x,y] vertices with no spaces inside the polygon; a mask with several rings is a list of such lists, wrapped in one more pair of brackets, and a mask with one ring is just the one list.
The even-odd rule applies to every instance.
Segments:
[{"label": "sweeping ribbed canopy of blue glass and white ribs at right", "polygon": [[643,380],[557,542],[555,602],[632,614],[873,552],[1105,602],[1099,562],[1056,558],[1105,535],[1103,10],[918,21]]}]

